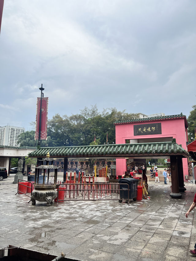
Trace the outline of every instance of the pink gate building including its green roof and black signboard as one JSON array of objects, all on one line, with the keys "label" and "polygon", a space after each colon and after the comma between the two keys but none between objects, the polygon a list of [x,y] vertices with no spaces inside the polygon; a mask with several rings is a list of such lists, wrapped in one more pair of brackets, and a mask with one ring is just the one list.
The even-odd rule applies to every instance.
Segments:
[{"label": "pink gate building including its green roof and black signboard", "polygon": [[[115,122],[116,144],[169,142],[172,139],[187,150],[187,118],[182,113],[162,117],[149,117]],[[141,157],[142,158],[142,157]],[[166,157],[167,158],[167,157]],[[169,158],[169,157],[168,157]],[[132,160],[134,159],[132,157]],[[188,160],[183,158],[183,175],[188,175]],[[143,160],[145,162],[145,160]],[[116,175],[127,171],[126,159],[116,159]]]}]

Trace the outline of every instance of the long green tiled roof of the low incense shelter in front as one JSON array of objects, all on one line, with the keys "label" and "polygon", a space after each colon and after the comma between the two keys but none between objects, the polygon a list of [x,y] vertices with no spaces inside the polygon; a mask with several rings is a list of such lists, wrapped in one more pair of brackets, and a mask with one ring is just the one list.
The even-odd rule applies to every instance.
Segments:
[{"label": "long green tiled roof of the low incense shelter in front", "polygon": [[109,144],[75,147],[44,147],[29,154],[29,157],[45,157],[49,152],[50,157],[109,157],[109,156],[144,156],[144,155],[183,155],[189,154],[175,142],[153,142],[136,144]]}]

